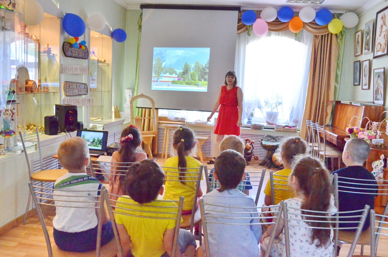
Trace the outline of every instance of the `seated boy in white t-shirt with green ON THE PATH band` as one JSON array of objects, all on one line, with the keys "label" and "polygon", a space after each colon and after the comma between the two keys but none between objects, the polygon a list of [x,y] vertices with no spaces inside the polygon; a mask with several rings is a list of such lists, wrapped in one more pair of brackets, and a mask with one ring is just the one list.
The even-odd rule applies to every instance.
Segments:
[{"label": "seated boy in white t-shirt with green ON THE PATH band", "polygon": [[[54,196],[54,200],[99,200],[100,191],[98,190],[101,189],[102,185],[97,179],[86,174],[86,166],[90,163],[90,155],[85,139],[72,137],[63,141],[58,148],[58,159],[59,163],[68,170],[68,173],[55,181],[54,189],[63,189],[67,192],[61,193],[63,196]],[[65,206],[94,207],[99,206],[99,202],[69,203],[55,201],[55,204],[59,205],[56,207],[56,215],[52,222],[55,244],[60,249],[70,252],[95,250],[99,208],[69,208]],[[101,245],[104,245],[114,238],[114,234],[112,223],[107,220],[104,208],[102,210]]]}]

